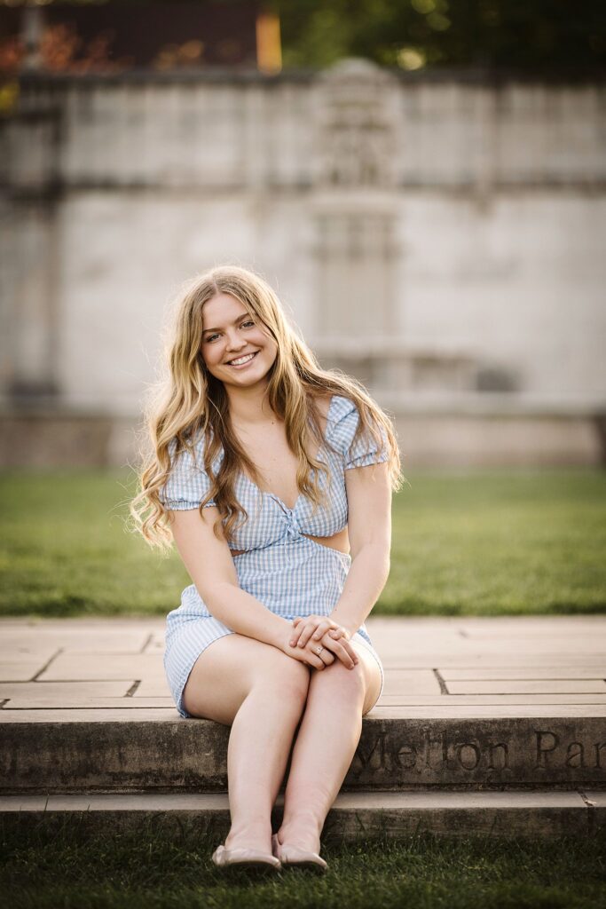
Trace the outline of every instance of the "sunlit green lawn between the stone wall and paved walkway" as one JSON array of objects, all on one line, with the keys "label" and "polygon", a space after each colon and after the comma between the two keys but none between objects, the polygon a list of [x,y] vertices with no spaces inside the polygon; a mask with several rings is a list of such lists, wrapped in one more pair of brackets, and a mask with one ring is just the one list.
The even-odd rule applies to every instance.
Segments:
[{"label": "sunlit green lawn between the stone wall and paved walkway", "polygon": [[[374,614],[606,612],[606,472],[408,474]],[[126,526],[131,472],[0,475],[0,614],[165,614],[189,578]]]}]

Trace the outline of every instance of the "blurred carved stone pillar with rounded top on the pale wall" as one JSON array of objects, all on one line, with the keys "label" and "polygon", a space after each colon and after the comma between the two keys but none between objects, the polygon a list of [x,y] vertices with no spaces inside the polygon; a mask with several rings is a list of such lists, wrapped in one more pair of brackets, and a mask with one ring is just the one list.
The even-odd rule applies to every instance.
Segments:
[{"label": "blurred carved stone pillar with rounded top on the pale wall", "polygon": [[400,335],[399,85],[376,65],[350,59],[323,73],[317,92],[314,347],[325,365],[389,386],[383,342]]}]

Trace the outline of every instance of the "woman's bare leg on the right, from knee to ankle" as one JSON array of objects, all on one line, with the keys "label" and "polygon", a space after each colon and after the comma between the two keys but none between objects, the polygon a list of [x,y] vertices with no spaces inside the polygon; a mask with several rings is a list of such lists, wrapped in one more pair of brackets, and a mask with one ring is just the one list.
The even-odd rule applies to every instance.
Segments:
[{"label": "woman's bare leg on the right, from knee to ankle", "polygon": [[335,660],[313,670],[307,705],[293,748],[284,793],[278,841],[320,851],[320,834],[362,733],[363,713],[381,687],[381,671],[372,654],[356,647],[360,663],[346,669]]}]

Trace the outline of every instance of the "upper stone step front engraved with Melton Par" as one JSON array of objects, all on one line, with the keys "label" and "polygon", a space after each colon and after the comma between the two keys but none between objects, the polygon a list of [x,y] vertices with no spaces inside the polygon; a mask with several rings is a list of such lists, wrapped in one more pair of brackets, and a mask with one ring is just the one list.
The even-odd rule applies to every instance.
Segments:
[{"label": "upper stone step front engraved with Melton Par", "polygon": [[[373,711],[343,790],[606,789],[601,709],[468,709]],[[226,789],[227,726],[174,711],[48,713],[0,714],[3,794]]]}]

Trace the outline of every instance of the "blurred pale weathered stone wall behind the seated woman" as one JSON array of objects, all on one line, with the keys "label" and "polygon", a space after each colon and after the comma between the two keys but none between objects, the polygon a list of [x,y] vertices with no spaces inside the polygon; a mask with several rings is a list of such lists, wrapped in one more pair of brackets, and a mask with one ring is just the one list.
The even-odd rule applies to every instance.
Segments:
[{"label": "blurred pale weathered stone wall behind the seated woman", "polygon": [[552,459],[599,460],[605,96],[352,60],[24,80],[0,131],[5,407],[136,420],[168,301],[231,261],[399,418],[555,407]]}]

